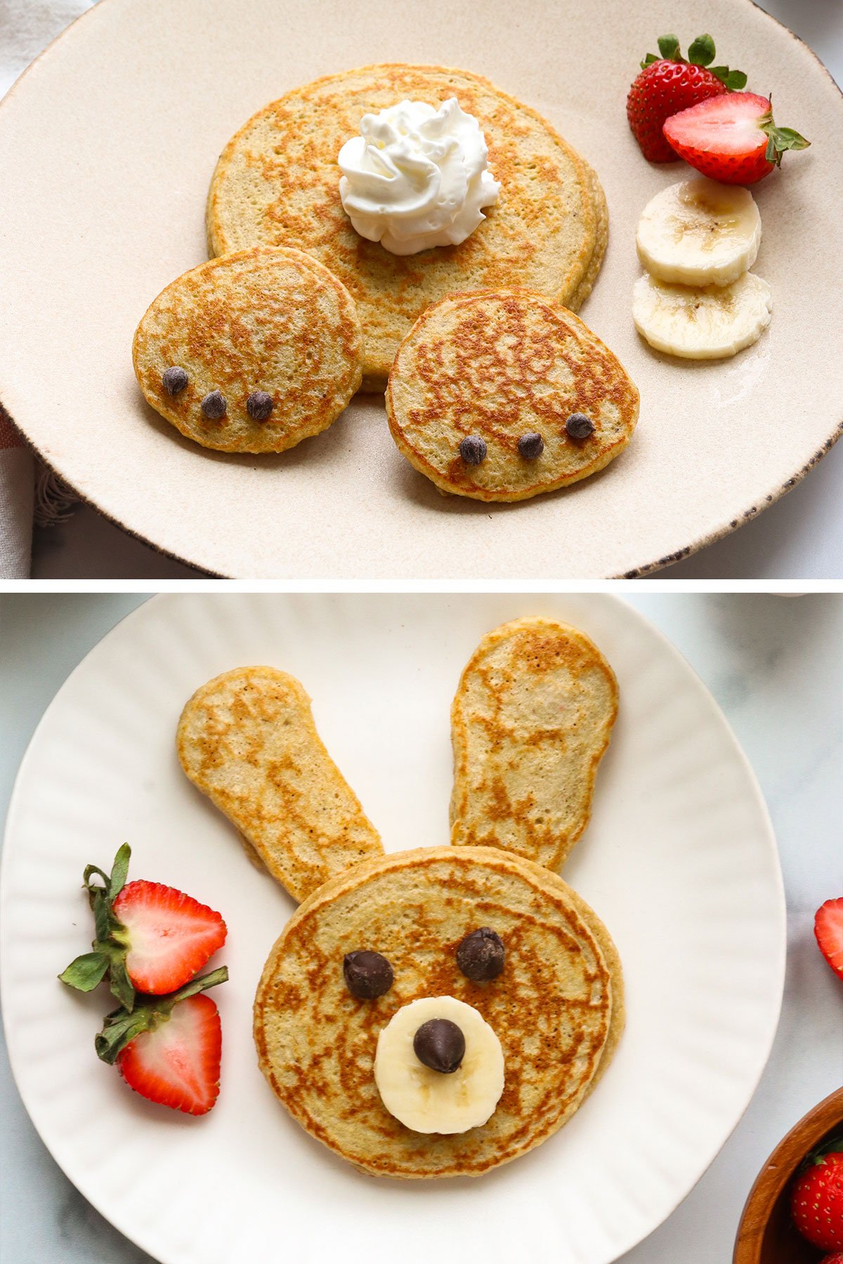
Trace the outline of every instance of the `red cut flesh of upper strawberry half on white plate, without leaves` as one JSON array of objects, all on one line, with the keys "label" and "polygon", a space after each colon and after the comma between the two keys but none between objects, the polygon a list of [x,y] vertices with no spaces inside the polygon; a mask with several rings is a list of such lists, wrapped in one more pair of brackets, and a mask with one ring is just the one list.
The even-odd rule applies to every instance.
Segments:
[{"label": "red cut flesh of upper strawberry half on white plate, without leaves", "polygon": [[112,908],[128,933],[129,977],[153,996],[176,991],[225,943],[219,913],[161,882],[128,882]]}]

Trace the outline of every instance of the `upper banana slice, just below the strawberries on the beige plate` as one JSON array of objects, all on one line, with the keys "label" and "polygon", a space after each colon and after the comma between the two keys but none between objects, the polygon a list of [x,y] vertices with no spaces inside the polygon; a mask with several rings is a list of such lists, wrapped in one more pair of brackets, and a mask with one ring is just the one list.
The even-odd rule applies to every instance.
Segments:
[{"label": "upper banana slice, just below the strawberries on the beige plate", "polygon": [[761,216],[747,188],[700,176],[662,188],[647,202],[636,245],[658,281],[728,286],[756,262]]}]

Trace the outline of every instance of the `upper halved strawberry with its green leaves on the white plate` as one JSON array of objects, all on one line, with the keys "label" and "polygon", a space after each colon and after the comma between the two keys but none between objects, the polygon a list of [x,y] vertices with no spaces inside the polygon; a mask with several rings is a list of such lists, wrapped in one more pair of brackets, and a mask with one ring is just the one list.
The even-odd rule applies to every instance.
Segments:
[{"label": "upper halved strawberry with its green leaves on the white plate", "polygon": [[[111,992],[130,1012],[135,988],[154,996],[172,992],[193,977],[225,943],[219,913],[183,891],[161,882],[129,882],[128,843],[118,851],[111,873],[96,865],[85,870],[83,885],[94,910],[94,952],[77,957],[58,977],[90,992],[109,976]],[[94,882],[94,875],[102,885]]]}]

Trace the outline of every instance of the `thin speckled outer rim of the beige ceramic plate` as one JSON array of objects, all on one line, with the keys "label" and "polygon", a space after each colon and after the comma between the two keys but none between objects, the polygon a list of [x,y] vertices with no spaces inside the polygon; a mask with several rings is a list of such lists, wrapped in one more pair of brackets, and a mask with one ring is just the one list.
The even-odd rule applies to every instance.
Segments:
[{"label": "thin speckled outer rim of the beige ceramic plate", "polygon": [[[102,13],[106,5],[110,5],[112,3],[116,4],[118,0],[96,0],[96,3],[92,4],[88,9],[86,9],[85,13],[81,13],[77,18],[75,18],[70,23],[68,27],[64,28],[64,30],[62,30],[58,35],[56,35],[56,38],[52,39],[51,43],[42,49],[42,52],[34,58],[34,61],[30,62],[29,66],[27,66],[21,71],[21,73],[9,87],[6,94],[0,99],[0,126],[3,126],[3,121],[5,119],[4,110],[6,109],[8,102],[16,96],[20,83],[25,78],[28,78],[29,72],[34,70],[34,67],[37,67],[44,57],[52,56],[56,47],[61,44],[66,37],[71,35],[71,33],[75,33],[75,35],[77,35],[78,34],[78,32],[76,32],[77,27],[86,23],[88,19],[92,19],[94,14]],[[126,0],[123,0],[123,3],[126,3]],[[801,39],[795,32],[792,32],[790,27],[786,27],[782,21],[779,21],[779,19],[775,18],[772,14],[767,13],[766,9],[762,9],[761,5],[757,3],[757,0],[741,0],[741,4],[748,5],[749,8],[757,10],[762,15],[762,18],[766,18],[768,21],[773,23],[773,25],[781,28],[781,30],[784,30],[787,35],[790,35],[790,38],[795,40],[795,43],[801,44],[801,47],[816,62],[816,66],[823,72],[823,75],[825,75],[832,86],[837,88],[838,95],[843,99],[843,86],[837,83],[832,72],[828,70],[828,67],[823,63],[819,56],[804,39]],[[1,372],[3,367],[0,365],[0,374]],[[25,440],[29,447],[32,447],[35,451],[38,459],[47,466],[47,469],[51,470],[53,474],[58,475],[64,483],[67,483],[67,485],[72,489],[72,492],[78,497],[78,499],[83,504],[91,506],[94,509],[96,509],[97,513],[101,513],[107,522],[119,527],[121,531],[125,531],[126,535],[131,536],[134,540],[139,540],[142,544],[153,549],[163,557],[169,557],[171,560],[181,562],[182,565],[192,566],[195,570],[200,570],[202,571],[202,574],[216,579],[245,578],[239,575],[227,575],[222,574],[221,571],[211,570],[205,565],[187,556],[183,556],[181,552],[168,547],[166,544],[162,544],[158,540],[152,538],[152,536],[143,535],[143,532],[136,531],[128,523],[125,523],[118,514],[104,509],[97,503],[96,498],[92,494],[90,494],[86,490],[82,490],[80,487],[76,487],[76,484],[72,483],[57,465],[54,465],[51,460],[48,460],[48,458],[40,450],[35,440],[33,440],[30,435],[27,432],[25,426],[18,422],[14,415],[9,412],[8,407],[4,406],[3,403],[4,393],[6,392],[4,391],[3,382],[0,380],[0,410],[5,412],[6,417],[9,418],[14,428],[18,431],[19,435],[21,435],[21,437]],[[804,464],[799,466],[799,469],[796,469],[794,474],[784,483],[776,483],[772,487],[767,487],[766,490],[762,490],[760,495],[756,497],[755,504],[751,504],[748,508],[738,508],[737,511],[733,512],[733,514],[727,516],[722,522],[719,522],[718,526],[712,527],[710,531],[704,532],[703,535],[695,537],[688,545],[682,545],[679,549],[675,549],[674,552],[671,554],[667,554],[662,557],[651,557],[648,560],[642,561],[640,565],[633,566],[629,570],[618,571],[603,576],[594,575],[591,578],[641,579],[645,575],[652,575],[656,571],[664,570],[665,568],[671,566],[674,562],[684,561],[686,557],[691,557],[694,554],[700,552],[709,545],[717,544],[718,540],[724,540],[727,536],[733,535],[736,531],[738,531],[747,522],[751,522],[755,518],[757,518],[758,514],[763,513],[765,509],[768,509],[777,501],[782,499],[782,497],[785,497],[799,483],[801,483],[805,475],[809,474],[816,465],[819,465],[822,459],[827,456],[828,453],[830,453],[830,450],[834,447],[834,445],[842,436],[843,436],[843,404],[840,406],[839,420],[833,422],[832,431],[829,436],[823,441],[822,446],[818,450],[815,450],[814,454],[809,456],[804,461]],[[406,579],[407,576],[403,578]]]}]

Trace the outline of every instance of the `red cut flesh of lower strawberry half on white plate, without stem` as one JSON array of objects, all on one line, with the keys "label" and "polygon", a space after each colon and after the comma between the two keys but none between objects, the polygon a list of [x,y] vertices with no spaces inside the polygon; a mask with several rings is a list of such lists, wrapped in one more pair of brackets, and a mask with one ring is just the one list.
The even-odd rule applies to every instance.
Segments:
[{"label": "red cut flesh of lower strawberry half on white plate, without stem", "polygon": [[220,1092],[222,1033],[210,996],[176,1005],[154,1031],[142,1031],[119,1054],[126,1083],[150,1101],[205,1115]]}]

